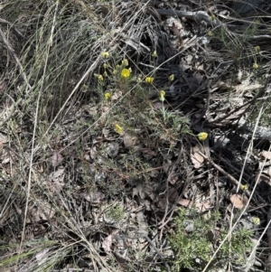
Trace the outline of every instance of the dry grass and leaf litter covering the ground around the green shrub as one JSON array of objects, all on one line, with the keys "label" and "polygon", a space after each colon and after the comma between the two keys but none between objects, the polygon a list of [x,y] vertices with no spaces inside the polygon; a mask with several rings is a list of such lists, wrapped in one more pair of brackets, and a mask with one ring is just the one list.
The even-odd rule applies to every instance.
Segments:
[{"label": "dry grass and leaf litter covering the ground around the green shrub", "polygon": [[[257,176],[267,166],[256,176],[247,162],[252,144],[268,143],[233,121],[270,120],[270,20],[263,7],[239,16],[231,2],[189,6],[204,23],[166,21],[161,9],[180,8],[150,1],[0,4],[1,271],[170,271],[176,255],[164,241],[184,199],[220,211],[214,230],[222,221],[229,245],[259,218],[242,269],[264,269],[270,185],[262,193]],[[229,195],[245,197],[244,183],[250,198],[238,211]],[[219,242],[201,270],[215,267]],[[229,270],[231,257],[229,246]]]}]

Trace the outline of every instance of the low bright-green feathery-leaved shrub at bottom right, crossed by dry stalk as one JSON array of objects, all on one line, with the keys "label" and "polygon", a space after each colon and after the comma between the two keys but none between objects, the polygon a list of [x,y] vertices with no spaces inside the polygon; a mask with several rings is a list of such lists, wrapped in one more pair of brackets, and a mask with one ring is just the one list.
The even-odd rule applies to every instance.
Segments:
[{"label": "low bright-green feathery-leaved shrub at bottom right, crossed by dry stalk", "polygon": [[[212,257],[215,249],[226,237],[228,231],[224,228],[215,232],[215,223],[220,220],[220,213],[214,212],[209,220],[197,214],[195,210],[181,209],[175,218],[175,231],[168,237],[175,254],[173,271],[181,268],[202,268]],[[251,247],[250,230],[234,230],[230,243],[227,240],[221,247],[213,263],[229,259],[235,263],[245,263],[244,255]]]}]

